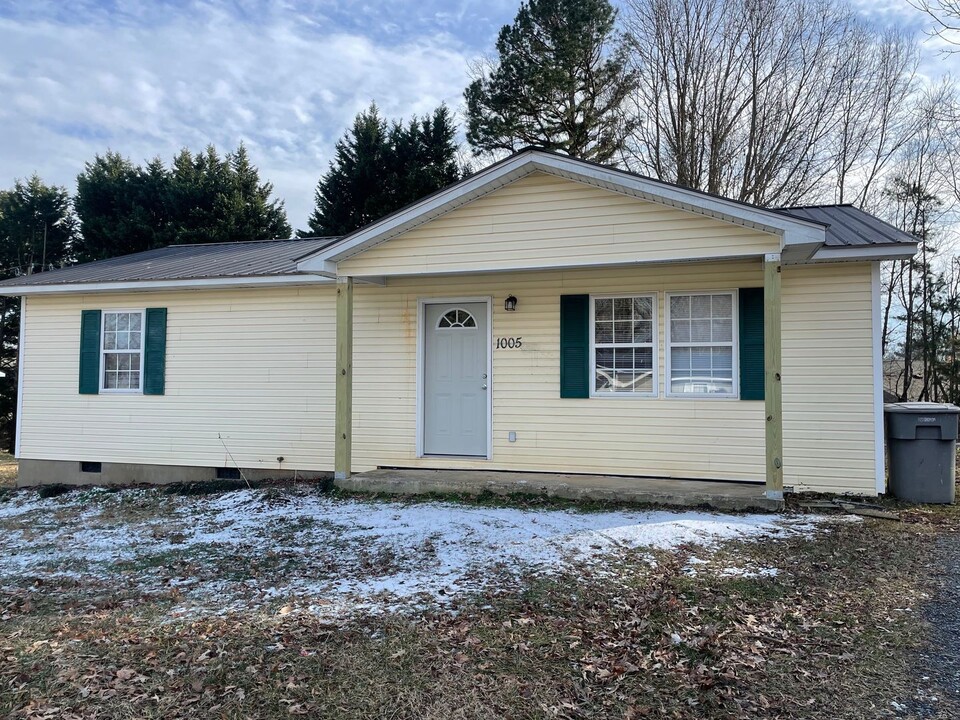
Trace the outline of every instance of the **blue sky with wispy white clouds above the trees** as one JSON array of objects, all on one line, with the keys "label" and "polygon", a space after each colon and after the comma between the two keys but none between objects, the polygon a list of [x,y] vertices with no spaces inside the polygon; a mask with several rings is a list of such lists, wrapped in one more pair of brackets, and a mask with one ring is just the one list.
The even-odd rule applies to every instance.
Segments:
[{"label": "blue sky with wispy white clouds above the trees", "polygon": [[[915,29],[907,0],[859,0]],[[74,190],[112,149],[135,162],[246,143],[304,227],[353,116],[461,110],[471,61],[519,0],[0,0],[0,187],[34,172]],[[926,47],[925,69],[960,59]]]}]

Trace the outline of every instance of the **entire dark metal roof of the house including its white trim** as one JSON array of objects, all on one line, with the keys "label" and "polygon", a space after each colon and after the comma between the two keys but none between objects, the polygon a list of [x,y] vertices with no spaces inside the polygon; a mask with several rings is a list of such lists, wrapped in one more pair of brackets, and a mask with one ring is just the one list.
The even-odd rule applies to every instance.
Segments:
[{"label": "entire dark metal roof of the house including its white trim", "polygon": [[[657,202],[782,239],[784,262],[912,257],[917,239],[852,205],[761,208],[537,148],[522,150],[342,238],[171,245],[0,281],[0,295],[332,282],[337,262],[534,172]],[[382,279],[367,278],[379,283]]]}]

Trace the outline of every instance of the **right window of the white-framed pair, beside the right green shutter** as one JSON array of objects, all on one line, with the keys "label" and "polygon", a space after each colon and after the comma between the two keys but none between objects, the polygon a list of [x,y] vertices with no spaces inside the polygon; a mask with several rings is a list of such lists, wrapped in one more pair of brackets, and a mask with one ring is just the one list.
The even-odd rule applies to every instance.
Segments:
[{"label": "right window of the white-framed pair, beside the right green shutter", "polygon": [[667,296],[667,393],[736,396],[733,292]]}]

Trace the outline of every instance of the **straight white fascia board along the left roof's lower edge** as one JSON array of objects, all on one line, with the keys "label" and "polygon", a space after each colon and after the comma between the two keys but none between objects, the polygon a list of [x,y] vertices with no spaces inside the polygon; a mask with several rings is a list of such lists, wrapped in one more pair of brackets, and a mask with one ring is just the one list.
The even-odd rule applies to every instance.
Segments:
[{"label": "straight white fascia board along the left roof's lower edge", "polygon": [[[376,280],[373,278],[371,280]],[[126,280],[120,282],[65,283],[62,285],[10,285],[0,287],[0,295],[66,295],[106,292],[160,292],[163,290],[206,290],[242,287],[281,287],[285,285],[333,284],[323,275],[265,275],[260,277],[196,278],[192,280]]]}]

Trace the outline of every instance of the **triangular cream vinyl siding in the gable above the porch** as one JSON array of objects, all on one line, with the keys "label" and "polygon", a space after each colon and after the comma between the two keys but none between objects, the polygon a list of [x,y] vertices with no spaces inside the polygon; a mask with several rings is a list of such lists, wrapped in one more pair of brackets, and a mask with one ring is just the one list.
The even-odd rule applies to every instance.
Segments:
[{"label": "triangular cream vinyl siding in the gable above the porch", "polygon": [[339,263],[409,275],[732,258],[779,252],[774,235],[533,173]]}]

